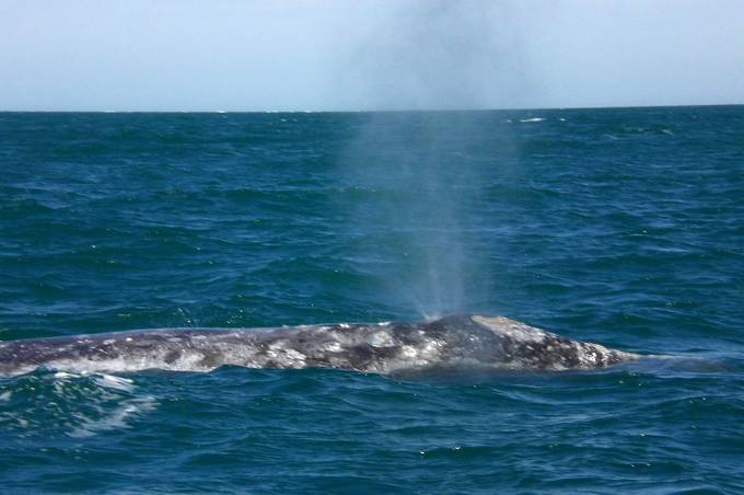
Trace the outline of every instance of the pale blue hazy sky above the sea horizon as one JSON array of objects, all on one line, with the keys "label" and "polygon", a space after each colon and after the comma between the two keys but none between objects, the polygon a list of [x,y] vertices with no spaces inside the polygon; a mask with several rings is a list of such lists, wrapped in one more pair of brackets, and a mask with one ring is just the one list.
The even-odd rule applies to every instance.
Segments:
[{"label": "pale blue hazy sky above the sea horizon", "polygon": [[0,0],[3,111],[731,103],[741,0]]}]

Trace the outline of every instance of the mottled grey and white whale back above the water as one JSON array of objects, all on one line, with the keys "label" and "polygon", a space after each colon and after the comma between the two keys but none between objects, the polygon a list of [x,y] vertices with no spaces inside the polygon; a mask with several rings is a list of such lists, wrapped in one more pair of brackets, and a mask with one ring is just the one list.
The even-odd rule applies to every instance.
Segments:
[{"label": "mottled grey and white whale back above the water", "polygon": [[396,372],[437,366],[593,369],[639,356],[571,341],[503,316],[277,329],[159,329],[0,343],[0,375],[70,371],[342,368]]}]

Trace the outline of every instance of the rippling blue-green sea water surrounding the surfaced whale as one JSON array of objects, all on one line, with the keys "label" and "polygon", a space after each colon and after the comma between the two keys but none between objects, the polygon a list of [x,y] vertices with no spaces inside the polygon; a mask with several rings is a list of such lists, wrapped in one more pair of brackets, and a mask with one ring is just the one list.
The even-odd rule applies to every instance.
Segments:
[{"label": "rippling blue-green sea water surrounding the surfaced whale", "polygon": [[3,492],[744,491],[744,107],[0,113],[0,339],[504,314],[596,372],[39,370]]}]

